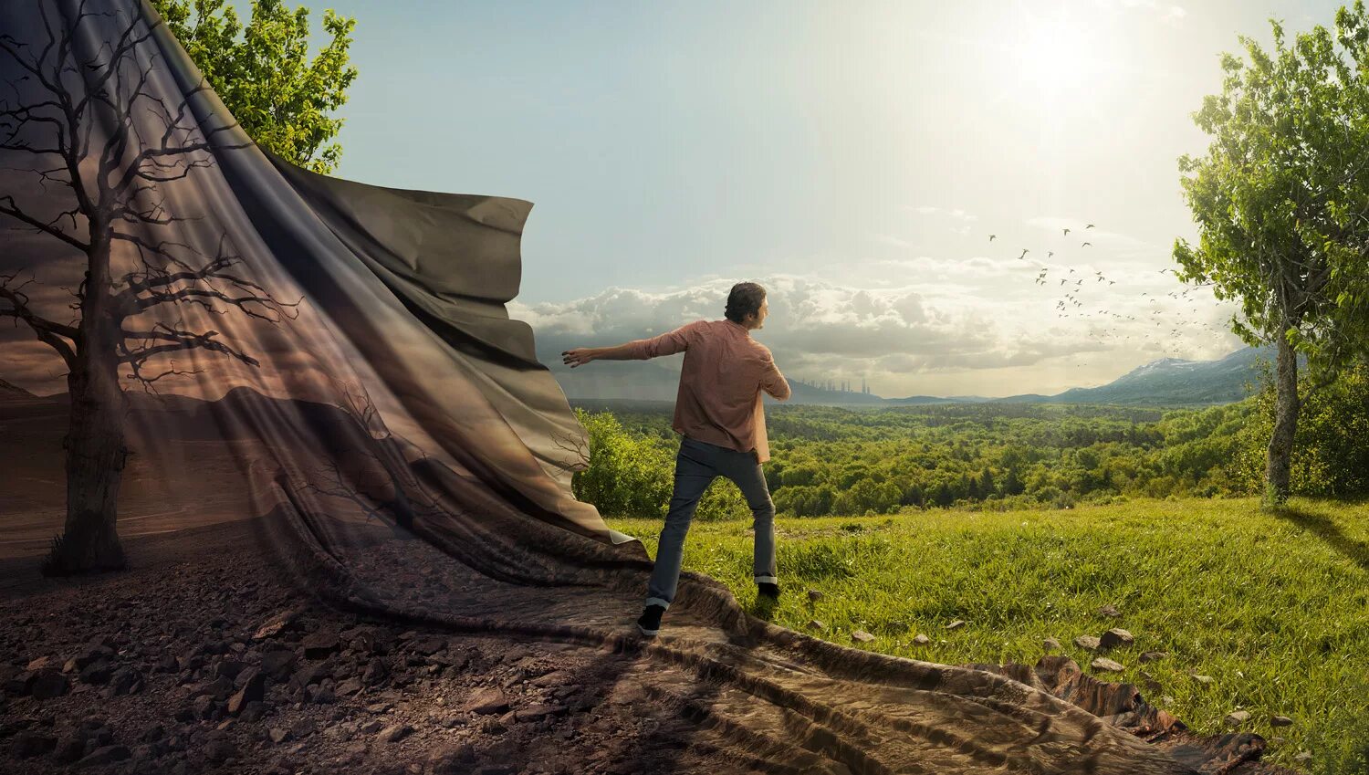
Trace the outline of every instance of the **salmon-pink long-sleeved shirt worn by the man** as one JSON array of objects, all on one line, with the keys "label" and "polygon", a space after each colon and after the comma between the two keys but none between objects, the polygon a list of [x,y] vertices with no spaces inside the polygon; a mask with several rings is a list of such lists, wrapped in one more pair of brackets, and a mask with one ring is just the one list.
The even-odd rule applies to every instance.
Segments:
[{"label": "salmon-pink long-sleeved shirt worn by the man", "polygon": [[789,398],[789,382],[775,367],[769,348],[731,320],[694,320],[674,331],[627,344],[632,360],[684,352],[672,427],[695,440],[756,450],[769,460],[761,390]]}]

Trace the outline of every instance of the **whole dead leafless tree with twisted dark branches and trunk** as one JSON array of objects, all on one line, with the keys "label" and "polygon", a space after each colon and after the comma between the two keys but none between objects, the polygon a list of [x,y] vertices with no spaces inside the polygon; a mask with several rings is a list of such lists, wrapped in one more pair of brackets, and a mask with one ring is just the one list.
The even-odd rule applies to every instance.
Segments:
[{"label": "whole dead leafless tree with twisted dark branches and trunk", "polygon": [[[0,189],[0,222],[51,237],[56,241],[49,242],[55,248],[51,256],[63,249],[73,260],[78,253],[85,256],[84,278],[71,292],[75,301],[70,307],[77,315],[64,323],[31,304],[25,286],[33,279],[16,283],[21,272],[0,275],[0,304],[7,303],[0,316],[26,323],[67,366],[67,513],[45,574],[126,564],[115,529],[120,471],[129,453],[120,370],[155,392],[152,383],[163,377],[201,371],[178,370],[170,360],[194,348],[257,366],[251,355],[219,338],[219,331],[192,330],[183,316],[188,305],[220,315],[237,309],[274,325],[282,316],[293,318],[289,308],[298,304],[278,301],[241,277],[234,267],[242,257],[227,236],[220,236],[211,252],[189,244],[178,230],[196,218],[172,214],[162,183],[211,167],[216,151],[244,148],[251,141],[216,144],[215,136],[237,125],[225,120],[205,127],[193,118],[192,101],[209,89],[203,78],[174,100],[155,93],[151,82],[160,55],[149,41],[162,21],[149,19],[142,3],[133,3],[127,16],[88,11],[86,0],[73,4],[62,4],[57,18],[49,14],[48,3],[36,4],[41,18],[36,40],[0,34],[0,63],[22,73],[7,81],[8,93],[0,96],[0,157],[27,162],[4,167],[7,174],[31,181]],[[119,30],[112,40],[110,29]],[[136,268],[115,277],[111,256],[120,242],[133,246],[137,262]],[[159,322],[138,322],[153,314]],[[149,368],[149,361],[163,360],[170,360],[170,367]]]}]

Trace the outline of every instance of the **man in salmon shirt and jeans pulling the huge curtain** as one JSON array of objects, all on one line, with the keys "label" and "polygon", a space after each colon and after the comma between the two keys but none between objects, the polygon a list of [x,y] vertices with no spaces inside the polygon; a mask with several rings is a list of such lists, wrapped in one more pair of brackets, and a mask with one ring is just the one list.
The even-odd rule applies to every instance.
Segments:
[{"label": "man in salmon shirt and jeans pulling the huge curtain", "polygon": [[675,457],[675,493],[656,549],[646,587],[646,609],[637,628],[646,637],[660,631],[661,615],[675,600],[684,555],[684,534],[698,498],[716,477],[742,490],[756,527],[753,571],[758,593],[779,598],[775,576],[775,504],[761,463],[769,460],[761,392],[784,401],[789,382],[769,349],[752,338],[765,325],[765,289],[739,282],[727,296],[723,320],[695,320],[650,340],[611,348],[576,348],[561,353],[571,368],[591,360],[646,360],[684,352],[672,427],[683,435]]}]

